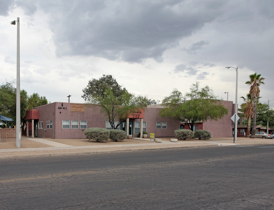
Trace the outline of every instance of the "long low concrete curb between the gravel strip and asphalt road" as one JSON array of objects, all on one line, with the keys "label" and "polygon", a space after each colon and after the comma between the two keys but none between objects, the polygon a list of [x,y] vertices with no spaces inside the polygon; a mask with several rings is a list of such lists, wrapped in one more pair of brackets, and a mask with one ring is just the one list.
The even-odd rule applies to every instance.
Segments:
[{"label": "long low concrete curb between the gravel strip and asphalt road", "polygon": [[135,152],[135,151],[145,151],[145,150],[182,149],[182,148],[213,147],[213,146],[220,146],[220,145],[213,144],[213,145],[195,145],[195,146],[151,147],[151,148],[136,148],[136,149],[121,149],[121,150],[102,150],[102,151],[90,151],[90,152],[86,151],[86,152],[68,152],[68,153],[5,155],[5,156],[0,156],[0,159],[22,158],[22,157],[51,157],[51,156],[63,156],[63,155],[90,155],[90,154],[101,154],[101,153]]}]

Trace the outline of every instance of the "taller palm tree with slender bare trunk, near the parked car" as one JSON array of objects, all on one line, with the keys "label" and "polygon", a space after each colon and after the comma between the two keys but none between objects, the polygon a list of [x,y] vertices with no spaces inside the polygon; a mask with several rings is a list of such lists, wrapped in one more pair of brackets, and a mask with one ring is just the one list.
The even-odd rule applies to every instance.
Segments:
[{"label": "taller palm tree with slender bare trunk, near the parked car", "polygon": [[257,118],[257,103],[258,103],[258,98],[260,95],[260,88],[259,86],[261,84],[264,84],[263,80],[265,78],[261,77],[261,74],[250,74],[249,75],[249,81],[246,81],[245,84],[250,86],[249,93],[253,99],[253,125],[252,125],[252,133],[251,133],[251,138],[255,138],[255,132],[256,132],[256,118]]}]

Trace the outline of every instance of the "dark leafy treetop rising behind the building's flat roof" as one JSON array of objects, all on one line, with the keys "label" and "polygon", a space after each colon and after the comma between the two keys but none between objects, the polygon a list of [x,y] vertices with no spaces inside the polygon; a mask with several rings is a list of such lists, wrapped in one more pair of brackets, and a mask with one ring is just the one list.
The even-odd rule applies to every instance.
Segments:
[{"label": "dark leafy treetop rising behind the building's flat roof", "polygon": [[117,83],[112,75],[103,74],[98,80],[93,78],[89,81],[86,88],[82,90],[84,92],[82,98],[88,101],[93,97],[103,97],[107,87],[110,87],[114,97],[118,99],[122,99],[122,95],[127,91],[126,88],[122,88],[122,86]]}]

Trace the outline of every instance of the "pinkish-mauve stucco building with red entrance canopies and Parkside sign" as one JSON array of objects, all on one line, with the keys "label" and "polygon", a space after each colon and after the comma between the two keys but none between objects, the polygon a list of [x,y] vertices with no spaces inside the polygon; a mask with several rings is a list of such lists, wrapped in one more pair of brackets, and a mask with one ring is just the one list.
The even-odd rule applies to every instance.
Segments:
[{"label": "pinkish-mauve stucco building with red entrance canopies and Parkside sign", "polygon": [[[195,124],[195,129],[204,129],[211,132],[211,137],[231,137],[234,127],[230,117],[234,114],[232,101],[222,101],[228,108],[228,115],[218,121],[207,121]],[[174,136],[174,130],[188,127],[179,120],[169,117],[160,117],[159,104],[150,105],[138,115],[131,115],[119,125],[119,129],[126,134],[138,137],[139,132],[155,133],[155,137]],[[28,134],[38,138],[52,139],[84,139],[84,130],[90,127],[103,127],[110,129],[108,119],[100,113],[96,105],[72,104],[54,102],[28,110],[27,121],[32,122],[32,129]],[[27,125],[29,128],[29,126]],[[32,132],[33,131],[33,132]]]}]

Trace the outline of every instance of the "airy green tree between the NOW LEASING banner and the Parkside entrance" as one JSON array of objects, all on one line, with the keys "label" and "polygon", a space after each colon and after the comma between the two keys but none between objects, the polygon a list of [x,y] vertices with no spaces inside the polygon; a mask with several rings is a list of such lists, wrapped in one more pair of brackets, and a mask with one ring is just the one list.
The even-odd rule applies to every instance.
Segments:
[{"label": "airy green tree between the NOW LEASING banner and the Parkside entrance", "polygon": [[[127,91],[119,99],[110,87],[105,89],[103,95],[93,96],[89,100],[89,104],[100,107],[101,113],[109,120],[112,129],[116,129],[133,111],[145,109],[145,102],[145,97],[136,97]],[[115,124],[115,121],[118,121],[118,124]]]}]

